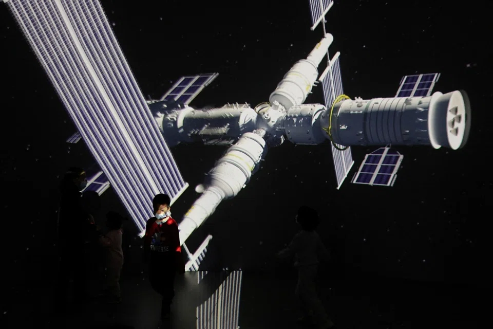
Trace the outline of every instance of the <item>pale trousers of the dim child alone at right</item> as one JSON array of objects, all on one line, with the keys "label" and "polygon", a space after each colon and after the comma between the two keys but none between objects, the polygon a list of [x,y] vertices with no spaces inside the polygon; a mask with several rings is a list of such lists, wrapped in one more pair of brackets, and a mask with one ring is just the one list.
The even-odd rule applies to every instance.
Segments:
[{"label": "pale trousers of the dim child alone at right", "polygon": [[298,267],[298,283],[295,294],[304,316],[313,316],[317,324],[327,321],[324,305],[318,298],[316,278],[318,265]]}]

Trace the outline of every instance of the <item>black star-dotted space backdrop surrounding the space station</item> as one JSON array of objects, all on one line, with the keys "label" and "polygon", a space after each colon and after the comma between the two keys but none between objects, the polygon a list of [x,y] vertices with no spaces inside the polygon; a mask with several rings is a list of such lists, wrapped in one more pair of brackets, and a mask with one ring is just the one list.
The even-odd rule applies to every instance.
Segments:
[{"label": "black star-dotted space backdrop surrounding the space station", "polygon": [[[192,102],[197,108],[226,102],[253,107],[268,100],[323,36],[320,26],[310,31],[308,1],[102,4],[146,98],[158,99],[181,76],[219,72]],[[480,233],[491,218],[493,187],[487,168],[492,117],[486,107],[493,96],[487,36],[492,9],[480,0],[467,6],[336,2],[326,26],[334,35],[331,56],[341,52],[345,94],[393,97],[404,75],[441,72],[434,91],[465,89],[469,95],[468,144],[458,151],[396,147],[404,161],[392,188],[350,183],[365,154],[376,149],[353,147],[355,164],[337,191],[328,142],[285,142],[269,150],[247,187],[187,241],[193,251],[207,234],[214,237],[200,269],[278,271],[274,255],[296,233],[297,207],[308,204],[323,218],[318,232],[333,254],[331,278],[368,285],[411,282],[424,290],[460,291],[464,299],[480,293],[487,264]],[[6,5],[0,5],[0,49],[0,295],[8,309],[9,298],[29,296],[32,287],[52,282],[60,178],[67,167],[88,168],[94,161],[82,140],[65,142],[75,127]],[[312,91],[306,102],[323,103],[321,86]],[[194,187],[225,148],[180,144],[172,151],[190,185],[173,206],[179,222],[198,196]],[[107,210],[125,213],[111,188],[101,200],[95,216],[101,226]],[[124,276],[138,276],[141,241],[131,222],[125,230]]]}]

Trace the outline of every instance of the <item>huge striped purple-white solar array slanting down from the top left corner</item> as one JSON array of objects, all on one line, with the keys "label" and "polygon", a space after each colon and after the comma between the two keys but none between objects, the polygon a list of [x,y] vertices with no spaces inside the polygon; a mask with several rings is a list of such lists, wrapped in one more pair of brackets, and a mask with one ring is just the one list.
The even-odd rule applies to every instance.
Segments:
[{"label": "huge striped purple-white solar array slanting down from the top left corner", "polygon": [[141,231],[152,198],[187,187],[98,0],[10,0],[37,58]]}]

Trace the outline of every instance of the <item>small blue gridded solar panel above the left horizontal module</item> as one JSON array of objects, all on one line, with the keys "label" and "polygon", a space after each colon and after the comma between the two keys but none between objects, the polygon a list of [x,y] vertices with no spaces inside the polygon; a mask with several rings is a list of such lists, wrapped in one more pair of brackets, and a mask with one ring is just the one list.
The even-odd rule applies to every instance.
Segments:
[{"label": "small blue gridded solar panel above the left horizontal module", "polygon": [[174,100],[178,103],[189,104],[195,97],[217,78],[218,73],[200,74],[197,76],[181,77],[171,87],[161,100]]}]

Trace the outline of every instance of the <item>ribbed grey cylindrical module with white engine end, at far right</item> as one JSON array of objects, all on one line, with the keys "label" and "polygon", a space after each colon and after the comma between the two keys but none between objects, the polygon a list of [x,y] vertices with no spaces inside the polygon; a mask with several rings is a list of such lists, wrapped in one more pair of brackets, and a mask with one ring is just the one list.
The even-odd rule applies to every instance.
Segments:
[{"label": "ribbed grey cylindrical module with white engine end, at far right", "polygon": [[[329,110],[330,111],[330,110]],[[467,94],[345,100],[334,105],[331,135],[340,145],[432,145],[457,150],[470,130]],[[329,116],[322,117],[328,126]]]}]

